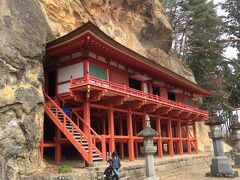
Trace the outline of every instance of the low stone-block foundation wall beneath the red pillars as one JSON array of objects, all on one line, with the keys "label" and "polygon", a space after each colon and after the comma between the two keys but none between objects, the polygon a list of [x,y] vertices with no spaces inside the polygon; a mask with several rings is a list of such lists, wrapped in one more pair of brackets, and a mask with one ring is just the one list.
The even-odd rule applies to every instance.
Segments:
[{"label": "low stone-block foundation wall beneath the red pillars", "polygon": [[[186,171],[198,171],[199,168],[206,169],[210,167],[211,155],[193,155],[186,157],[174,157],[158,159],[155,163],[156,176],[166,178],[183,174]],[[103,179],[103,171],[106,166],[89,167],[78,170],[71,174],[50,174],[50,175],[32,175],[22,177],[22,180],[77,180],[77,179]],[[140,163],[123,163],[121,169],[121,180],[141,180],[145,177],[144,161]]]}]

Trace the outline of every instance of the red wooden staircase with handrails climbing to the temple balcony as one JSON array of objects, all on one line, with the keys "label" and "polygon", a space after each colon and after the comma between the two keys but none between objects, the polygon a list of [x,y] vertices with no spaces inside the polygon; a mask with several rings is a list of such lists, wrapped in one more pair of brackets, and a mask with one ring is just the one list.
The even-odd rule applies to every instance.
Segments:
[{"label": "red wooden staircase with handrails climbing to the temple balcony", "polygon": [[[46,100],[44,104],[46,114],[80,152],[87,164],[92,165],[94,162],[106,160],[104,136],[99,136],[91,127],[87,126],[76,112],[73,112],[77,117],[77,124],[75,124],[54,100],[46,93],[44,95]],[[80,121],[89,130],[90,133],[88,136],[79,128]],[[97,142],[101,143],[101,151],[96,146]]]}]

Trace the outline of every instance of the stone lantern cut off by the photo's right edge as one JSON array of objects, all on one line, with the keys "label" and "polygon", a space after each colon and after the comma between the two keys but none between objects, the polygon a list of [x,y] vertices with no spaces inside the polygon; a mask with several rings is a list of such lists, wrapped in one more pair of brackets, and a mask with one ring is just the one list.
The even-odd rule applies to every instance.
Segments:
[{"label": "stone lantern cut off by the photo's right edge", "polygon": [[240,123],[238,122],[237,115],[233,116],[233,124],[230,126],[232,129],[231,140],[235,142],[236,154],[234,155],[233,167],[240,167]]}]

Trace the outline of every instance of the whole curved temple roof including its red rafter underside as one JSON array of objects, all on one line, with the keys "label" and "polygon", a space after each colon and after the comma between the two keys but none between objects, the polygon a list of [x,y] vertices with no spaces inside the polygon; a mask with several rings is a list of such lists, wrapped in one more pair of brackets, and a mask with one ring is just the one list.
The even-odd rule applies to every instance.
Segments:
[{"label": "whole curved temple roof including its red rafter underside", "polygon": [[203,96],[211,95],[209,91],[197,84],[156,63],[156,60],[146,58],[118,43],[92,22],[48,42],[46,48],[48,57],[61,57],[80,48],[90,48],[93,52],[105,53],[105,56],[112,59],[114,57],[129,67],[135,67],[140,72],[146,72],[155,79],[163,80],[183,90]]}]

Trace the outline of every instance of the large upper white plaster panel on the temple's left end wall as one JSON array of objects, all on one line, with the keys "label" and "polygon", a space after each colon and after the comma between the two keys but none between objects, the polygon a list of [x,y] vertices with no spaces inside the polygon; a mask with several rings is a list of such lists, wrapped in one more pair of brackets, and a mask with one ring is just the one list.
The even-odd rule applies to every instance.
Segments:
[{"label": "large upper white plaster panel on the temple's left end wall", "polygon": [[83,62],[60,68],[58,70],[58,82],[67,81],[72,78],[83,77]]}]

